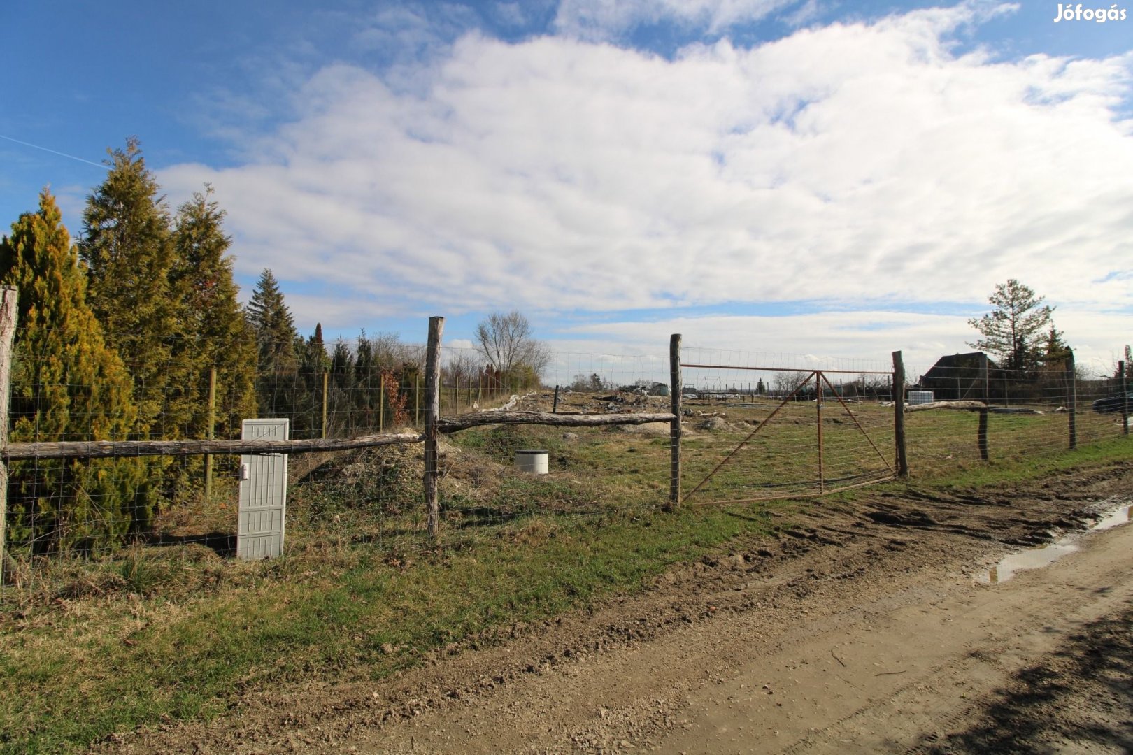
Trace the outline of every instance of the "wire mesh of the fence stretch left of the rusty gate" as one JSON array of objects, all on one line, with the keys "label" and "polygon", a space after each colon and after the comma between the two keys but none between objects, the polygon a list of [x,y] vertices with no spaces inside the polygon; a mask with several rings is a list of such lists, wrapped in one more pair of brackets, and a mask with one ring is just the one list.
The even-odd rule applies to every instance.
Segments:
[{"label": "wire mesh of the fence stretch left of the rusty gate", "polygon": [[[17,370],[12,385],[12,440],[238,439],[241,420],[253,417],[288,419],[296,440],[420,432],[424,345],[378,336],[340,340],[322,350],[308,344],[296,352],[305,359],[261,366],[242,377],[223,363],[202,364],[191,381],[179,386],[160,392],[138,386],[135,398],[153,412],[145,428],[107,426],[94,400],[76,400],[96,396],[96,389],[51,383],[45,377],[50,357],[20,353],[26,369]],[[663,358],[570,352],[547,358],[544,375],[557,376],[559,385],[487,366],[472,349],[444,346],[442,418],[497,411],[668,412]],[[39,378],[29,380],[33,375]],[[40,411],[50,395],[71,396],[66,422]],[[488,423],[443,435],[444,542],[542,537],[534,533],[553,532],[563,517],[661,506],[667,492],[668,432],[667,422]],[[516,452],[533,448],[547,452],[547,474],[516,469]],[[351,560],[349,554],[357,551],[403,561],[406,554],[434,548],[426,537],[421,452],[419,443],[409,443],[291,454],[287,555],[299,561]],[[212,578],[210,569],[230,563],[236,552],[237,454],[34,458],[9,466],[7,552],[17,563],[16,578],[25,583],[46,583],[52,570],[69,573],[96,561],[114,584],[126,573],[138,580],[143,573]],[[90,584],[101,590],[108,583],[92,577]]]}]

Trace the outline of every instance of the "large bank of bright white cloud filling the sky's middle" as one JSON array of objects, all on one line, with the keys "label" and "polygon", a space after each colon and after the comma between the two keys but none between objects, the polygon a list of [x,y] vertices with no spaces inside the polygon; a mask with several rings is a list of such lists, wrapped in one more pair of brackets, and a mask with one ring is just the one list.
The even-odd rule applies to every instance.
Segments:
[{"label": "large bank of bright white cloud filling the sky's middle", "polygon": [[[725,24],[778,5],[681,12]],[[645,12],[617,6],[563,8]],[[979,310],[1017,277],[1059,304],[1067,331],[1074,312],[1127,311],[1133,280],[1099,281],[1133,259],[1133,137],[1116,114],[1133,53],[954,54],[947,35],[980,8],[811,27],[752,50],[725,40],[673,60],[466,35],[412,93],[327,66],[296,93],[292,122],[244,145],[254,162],[160,179],[172,196],[211,182],[238,268],[325,281],[342,292],[334,306]],[[952,342],[966,331],[959,318]],[[803,336],[823,337],[792,337]],[[840,333],[836,352],[862,345],[853,337]]]}]

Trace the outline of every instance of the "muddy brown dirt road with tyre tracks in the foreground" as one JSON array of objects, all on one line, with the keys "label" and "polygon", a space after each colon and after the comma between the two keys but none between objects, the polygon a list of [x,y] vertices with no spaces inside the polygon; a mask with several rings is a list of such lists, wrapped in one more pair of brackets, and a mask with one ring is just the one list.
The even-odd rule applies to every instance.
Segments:
[{"label": "muddy brown dirt road with tyre tracks in the foreground", "polygon": [[99,752],[1128,753],[1133,526],[1007,581],[989,569],[1131,497],[1133,464],[813,501],[791,533],[642,595]]}]

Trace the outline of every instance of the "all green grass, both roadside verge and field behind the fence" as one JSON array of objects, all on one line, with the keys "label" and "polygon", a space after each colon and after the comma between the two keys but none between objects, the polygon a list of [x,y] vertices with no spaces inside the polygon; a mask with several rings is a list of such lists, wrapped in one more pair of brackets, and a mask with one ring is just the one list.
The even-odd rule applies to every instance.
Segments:
[{"label": "all green grass, both roadside verge and field behind the fence", "polygon": [[[730,412],[724,431],[688,437],[685,486],[750,432],[755,426],[744,420],[761,421],[760,410],[744,411]],[[742,460],[722,469],[712,495],[734,498],[753,482],[812,474],[813,418],[813,406],[785,410]],[[885,453],[891,418],[874,407],[860,412]],[[985,463],[974,451],[973,414],[911,414],[914,483],[1010,484],[1131,458],[1128,439],[1111,435],[1073,453],[1047,453],[1059,443],[1058,421],[993,418],[993,458]],[[857,430],[845,423],[824,432],[832,470],[872,453],[850,440]],[[1107,432],[1083,428],[1088,438]],[[421,532],[419,460],[401,447],[366,456],[367,473],[331,463],[296,484],[288,551],[273,561],[237,563],[190,544],[35,564],[19,587],[0,595],[0,753],[79,752],[116,731],[207,720],[269,684],[382,678],[495,627],[640,591],[675,563],[768,534],[769,513],[798,505],[666,514],[666,438],[576,435],[497,427],[449,438],[436,542]],[[546,448],[553,473],[513,473],[519,447]],[[211,522],[231,515],[210,511],[202,515]]]}]

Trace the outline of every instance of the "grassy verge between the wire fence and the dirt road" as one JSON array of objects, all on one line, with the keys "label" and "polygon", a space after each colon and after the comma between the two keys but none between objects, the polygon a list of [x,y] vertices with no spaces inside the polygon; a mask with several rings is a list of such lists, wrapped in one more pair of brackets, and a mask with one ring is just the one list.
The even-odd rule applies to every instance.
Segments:
[{"label": "grassy verge between the wire fence and the dirt road", "polygon": [[528,515],[399,557],[353,552],[338,573],[305,552],[232,564],[239,580],[177,601],[130,592],[151,567],[128,556],[118,592],[5,607],[0,752],[77,752],[113,731],[208,719],[267,683],[381,678],[493,626],[633,592],[767,526],[716,508]]}]

